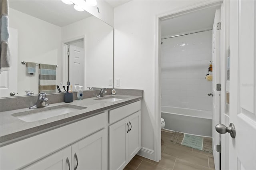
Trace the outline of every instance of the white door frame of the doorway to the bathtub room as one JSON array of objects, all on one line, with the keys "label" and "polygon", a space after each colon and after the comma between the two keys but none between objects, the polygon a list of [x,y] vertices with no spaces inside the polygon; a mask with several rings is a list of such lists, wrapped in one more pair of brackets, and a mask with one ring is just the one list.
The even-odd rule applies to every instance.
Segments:
[{"label": "white door frame of the doorway to the bathtub room", "polygon": [[[218,1],[204,1],[204,2],[199,2],[194,5],[190,6],[185,6],[183,8],[179,8],[177,10],[173,10],[171,12],[167,12],[164,14],[159,14],[156,16],[156,37],[155,37],[155,46],[156,46],[156,54],[155,54],[155,76],[154,76],[154,82],[155,82],[155,117],[156,117],[156,122],[155,122],[155,127],[154,127],[154,160],[159,161],[161,159],[161,62],[160,62],[160,57],[161,57],[161,20],[166,19],[166,18],[174,18],[183,14],[188,14],[190,12],[194,12],[197,10],[202,10],[205,8],[210,8],[210,7],[219,7],[221,10],[222,8],[222,0]],[[222,11],[221,11],[221,16],[222,16]],[[223,21],[222,21],[223,22]],[[224,24],[224,23],[223,23]],[[224,31],[223,31],[224,32]],[[224,33],[225,34],[225,33]],[[220,43],[221,45],[224,42],[224,35],[221,36],[220,38]],[[225,37],[225,36],[224,36]],[[224,53],[225,47],[221,49],[221,55]]]}]

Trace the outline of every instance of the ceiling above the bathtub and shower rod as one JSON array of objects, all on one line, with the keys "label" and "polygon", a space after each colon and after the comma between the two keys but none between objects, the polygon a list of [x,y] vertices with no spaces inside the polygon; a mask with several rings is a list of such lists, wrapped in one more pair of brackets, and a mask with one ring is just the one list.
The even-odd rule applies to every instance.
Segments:
[{"label": "ceiling above the bathtub and shower rod", "polygon": [[162,38],[212,28],[215,10],[216,8],[207,8],[162,20]]}]

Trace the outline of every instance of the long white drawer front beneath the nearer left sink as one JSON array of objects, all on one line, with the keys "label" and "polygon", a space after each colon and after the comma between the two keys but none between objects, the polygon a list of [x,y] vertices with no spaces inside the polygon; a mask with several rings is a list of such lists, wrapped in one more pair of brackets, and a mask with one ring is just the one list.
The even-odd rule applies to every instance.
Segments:
[{"label": "long white drawer front beneath the nearer left sink", "polygon": [[106,127],[106,125],[107,113],[104,112],[3,146],[0,148],[0,169],[20,169]]}]

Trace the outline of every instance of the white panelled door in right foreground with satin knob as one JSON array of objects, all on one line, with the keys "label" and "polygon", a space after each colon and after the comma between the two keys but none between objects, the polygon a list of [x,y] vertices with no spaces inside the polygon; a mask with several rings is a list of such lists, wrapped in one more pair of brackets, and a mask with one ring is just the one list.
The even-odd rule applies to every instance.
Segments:
[{"label": "white panelled door in right foreground with satin knob", "polygon": [[230,170],[256,169],[255,55],[256,1],[230,1],[230,123],[236,128],[229,141]]}]

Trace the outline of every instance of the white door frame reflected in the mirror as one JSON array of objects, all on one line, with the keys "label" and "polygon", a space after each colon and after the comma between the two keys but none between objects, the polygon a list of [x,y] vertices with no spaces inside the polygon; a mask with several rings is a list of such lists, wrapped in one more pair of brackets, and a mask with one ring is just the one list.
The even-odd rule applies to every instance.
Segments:
[{"label": "white door frame reflected in the mirror", "polygon": [[[73,43],[73,42],[77,42],[82,39],[84,41],[84,65],[85,65],[86,64],[86,35],[78,36],[78,37],[71,38],[68,40],[62,40],[62,42],[61,42],[61,65],[62,65],[61,72],[62,72],[62,75],[61,75],[60,82],[62,82],[63,85],[66,85],[66,82],[68,81],[67,80],[68,62],[66,59],[66,57],[67,57],[66,45]],[[86,85],[86,68],[84,69],[84,86],[85,85]]]}]

